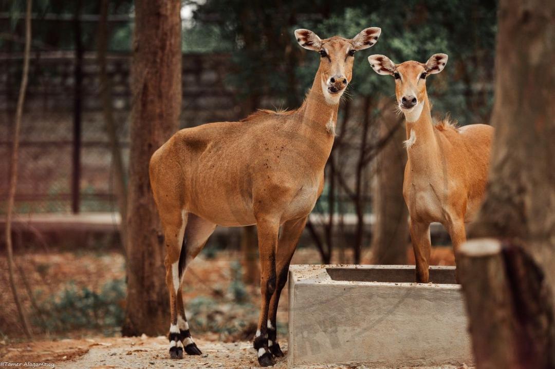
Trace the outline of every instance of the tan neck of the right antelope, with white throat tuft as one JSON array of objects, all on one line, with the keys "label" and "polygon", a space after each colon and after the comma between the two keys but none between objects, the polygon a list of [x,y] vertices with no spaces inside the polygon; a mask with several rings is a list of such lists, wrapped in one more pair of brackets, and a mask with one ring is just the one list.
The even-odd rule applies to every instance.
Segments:
[{"label": "tan neck of the right antelope, with white throat tuft", "polygon": [[425,95],[423,104],[418,119],[412,122],[406,121],[407,140],[405,145],[412,170],[430,167],[438,152],[428,95]]}]

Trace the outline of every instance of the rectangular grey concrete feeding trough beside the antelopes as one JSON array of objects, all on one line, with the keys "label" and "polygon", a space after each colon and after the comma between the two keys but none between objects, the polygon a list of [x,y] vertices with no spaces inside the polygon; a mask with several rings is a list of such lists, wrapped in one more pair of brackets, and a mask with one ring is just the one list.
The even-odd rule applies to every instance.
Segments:
[{"label": "rectangular grey concrete feeding trough beside the antelopes", "polygon": [[455,268],[412,265],[291,265],[289,367],[370,367],[473,362]]}]

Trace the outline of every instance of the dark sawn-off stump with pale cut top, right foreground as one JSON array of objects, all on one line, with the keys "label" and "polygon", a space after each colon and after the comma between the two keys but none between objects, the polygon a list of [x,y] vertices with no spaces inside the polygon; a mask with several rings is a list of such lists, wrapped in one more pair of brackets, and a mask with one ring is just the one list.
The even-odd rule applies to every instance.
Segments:
[{"label": "dark sawn-off stump with pale cut top, right foreground", "polygon": [[461,246],[457,268],[478,368],[553,368],[552,301],[542,289],[541,269],[523,249],[502,247],[496,239],[470,240]]}]

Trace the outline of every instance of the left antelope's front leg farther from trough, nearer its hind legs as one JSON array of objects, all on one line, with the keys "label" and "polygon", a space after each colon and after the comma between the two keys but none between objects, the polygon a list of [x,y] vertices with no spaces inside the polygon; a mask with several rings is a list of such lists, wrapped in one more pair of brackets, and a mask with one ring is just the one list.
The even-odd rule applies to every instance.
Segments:
[{"label": "left antelope's front leg farther from trough, nearer its hind legs", "polygon": [[268,307],[276,287],[275,250],[278,245],[279,220],[257,219],[258,247],[260,250],[260,317],[254,337],[254,349],[260,366],[274,365],[268,349]]}]

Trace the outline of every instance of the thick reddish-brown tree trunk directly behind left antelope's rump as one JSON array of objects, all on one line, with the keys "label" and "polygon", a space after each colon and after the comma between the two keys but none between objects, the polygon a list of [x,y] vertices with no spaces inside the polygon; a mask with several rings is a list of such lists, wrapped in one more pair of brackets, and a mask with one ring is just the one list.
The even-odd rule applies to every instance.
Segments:
[{"label": "thick reddish-brown tree trunk directly behind left antelope's rump", "polygon": [[135,2],[124,335],[168,330],[164,239],[148,174],[150,156],[178,128],[181,19],[178,0]]}]

